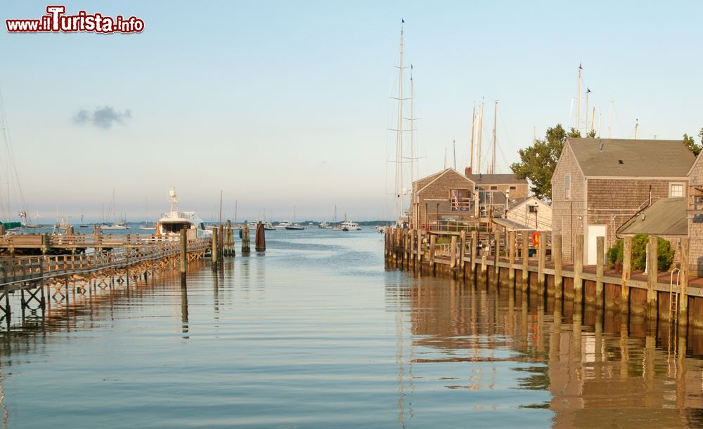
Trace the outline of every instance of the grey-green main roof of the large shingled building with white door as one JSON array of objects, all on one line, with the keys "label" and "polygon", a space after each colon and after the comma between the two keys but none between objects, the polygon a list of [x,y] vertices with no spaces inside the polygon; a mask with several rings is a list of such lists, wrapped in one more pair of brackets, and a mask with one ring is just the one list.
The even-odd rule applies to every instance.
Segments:
[{"label": "grey-green main roof of the large shingled building with white door", "polygon": [[569,138],[585,176],[685,177],[695,161],[683,140]]}]

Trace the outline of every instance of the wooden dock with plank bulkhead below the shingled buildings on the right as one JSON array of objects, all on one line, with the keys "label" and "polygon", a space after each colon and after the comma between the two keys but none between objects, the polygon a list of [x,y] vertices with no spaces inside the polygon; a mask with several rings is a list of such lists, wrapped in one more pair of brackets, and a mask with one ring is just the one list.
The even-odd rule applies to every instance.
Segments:
[{"label": "wooden dock with plank bulkhead below the shingled buildings on the right", "polygon": [[[688,238],[681,239],[681,266],[657,272],[657,251],[647,256],[647,273],[631,272],[631,238],[624,239],[621,272],[605,270],[604,238],[598,237],[596,265],[584,266],[583,235],[574,237],[575,263],[564,263],[562,237],[551,246],[529,244],[527,232],[424,231],[386,228],[385,258],[391,268],[422,275],[492,282],[510,289],[621,311],[650,321],[664,319],[678,326],[703,327],[703,279],[688,275]],[[650,236],[650,249],[657,249]],[[546,242],[546,240],[543,240]],[[441,243],[440,243],[441,242]]]}]

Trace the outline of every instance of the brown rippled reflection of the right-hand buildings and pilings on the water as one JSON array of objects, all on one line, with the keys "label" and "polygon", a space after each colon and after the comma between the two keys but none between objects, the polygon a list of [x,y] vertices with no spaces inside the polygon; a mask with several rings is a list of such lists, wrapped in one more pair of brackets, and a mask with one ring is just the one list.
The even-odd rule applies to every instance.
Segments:
[{"label": "brown rippled reflection of the right-hand buildings and pilings on the water", "polygon": [[[418,356],[411,362],[422,365],[415,378],[448,390],[543,391],[512,393],[520,399],[507,406],[549,409],[555,427],[701,423],[703,350],[687,347],[687,334],[699,342],[700,331],[676,336],[665,322],[647,326],[507,285],[486,291],[483,284],[415,277],[404,289],[391,286],[401,291],[399,311],[410,312]],[[489,397],[472,396],[471,406],[505,408]]]}]

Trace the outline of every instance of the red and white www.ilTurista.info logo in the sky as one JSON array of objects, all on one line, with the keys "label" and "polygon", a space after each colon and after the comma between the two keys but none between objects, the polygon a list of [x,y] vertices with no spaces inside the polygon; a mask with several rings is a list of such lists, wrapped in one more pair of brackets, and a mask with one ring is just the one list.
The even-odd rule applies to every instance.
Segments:
[{"label": "red and white www.ilTurista.info logo in the sky", "polygon": [[86,13],[78,11],[77,15],[65,15],[66,6],[46,6],[46,15],[39,19],[5,20],[7,31],[11,33],[141,33],[144,21],[130,16],[115,18],[103,16],[101,13]]}]

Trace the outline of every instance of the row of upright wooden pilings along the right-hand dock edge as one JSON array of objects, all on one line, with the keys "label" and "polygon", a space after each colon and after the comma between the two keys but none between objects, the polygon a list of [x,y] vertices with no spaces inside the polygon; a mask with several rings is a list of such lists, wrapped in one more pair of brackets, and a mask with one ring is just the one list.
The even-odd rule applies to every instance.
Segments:
[{"label": "row of upright wooden pilings along the right-hand dock edge", "polygon": [[[437,240],[439,235],[435,232],[416,231],[416,230],[399,230],[397,228],[387,229],[385,234],[385,255],[389,262],[397,261],[394,265],[396,268],[417,271],[418,275],[423,273],[423,269],[427,268],[436,274],[439,270],[443,273],[449,273],[452,277],[465,278],[467,272],[472,275],[478,270],[482,275],[489,274],[489,266],[491,267],[491,276],[494,276],[495,284],[502,287],[498,280],[507,275],[508,287],[514,287],[518,282],[515,277],[515,270],[522,269],[522,282],[520,289],[522,291],[531,291],[538,296],[543,293],[548,293],[549,296],[554,296],[557,300],[572,299],[574,305],[579,306],[585,301],[586,305],[594,305],[598,311],[603,308],[608,310],[617,308],[619,305],[624,312],[632,312],[633,314],[643,314],[647,319],[656,320],[657,317],[662,317],[658,313],[662,311],[657,308],[659,304],[659,293],[664,293],[662,284],[657,286],[657,237],[650,237],[648,244],[650,250],[647,257],[647,282],[631,282],[631,257],[632,257],[632,239],[631,237],[624,238],[624,266],[621,277],[614,279],[612,275],[605,277],[605,237],[597,237],[595,242],[596,264],[595,275],[593,271],[583,271],[584,258],[584,237],[583,235],[575,235],[573,240],[574,261],[571,270],[565,272],[562,260],[562,236],[558,233],[552,235],[551,257],[547,257],[548,241],[545,234],[541,235],[538,245],[536,246],[536,267],[529,265],[529,235],[527,232],[522,232],[522,245],[517,246],[517,234],[508,232],[505,235],[505,244],[501,241],[501,235],[491,233],[488,235],[489,241],[486,246],[482,246],[479,237],[482,234],[473,230],[470,234],[466,232],[444,233],[444,237],[449,237],[449,251],[446,251],[447,245],[439,246]],[[425,239],[427,237],[427,239]],[[486,237],[484,235],[484,237]],[[467,249],[468,247],[468,249]],[[508,263],[501,262],[501,248],[504,248],[505,254],[508,257]],[[688,290],[688,251],[690,243],[688,239],[681,239],[681,282],[676,288],[678,295],[672,294],[671,299],[678,299],[677,305],[671,305],[676,312],[672,317],[678,319],[678,324],[685,326],[691,323],[689,314],[689,301],[696,303],[695,305],[703,304],[703,296],[699,296],[698,292],[693,294],[696,298],[689,298],[690,291]],[[439,249],[442,249],[439,253]],[[491,257],[492,256],[492,257]],[[522,256],[522,258],[520,258]],[[548,267],[548,260],[553,264],[553,270]],[[533,257],[534,263],[534,257]],[[507,265],[507,266],[506,266]],[[444,268],[441,268],[444,267]],[[480,267],[480,268],[479,268]],[[419,270],[418,270],[419,268]],[[535,275],[531,277],[530,272]],[[553,282],[548,282],[548,277],[553,277]],[[573,282],[567,282],[565,278],[572,278]],[[573,285],[570,287],[570,283]],[[595,283],[595,288],[593,287]],[[646,286],[645,286],[646,284]],[[553,286],[552,286],[553,285]],[[615,288],[614,288],[615,286]],[[636,290],[631,292],[631,289]],[[657,289],[658,288],[658,289]],[[613,292],[614,291],[614,292]],[[659,306],[666,307],[666,300],[662,297],[662,303]],[[574,310],[575,311],[575,310]],[[668,316],[668,312],[667,315]],[[703,321],[695,321],[694,326],[703,326]]]}]

